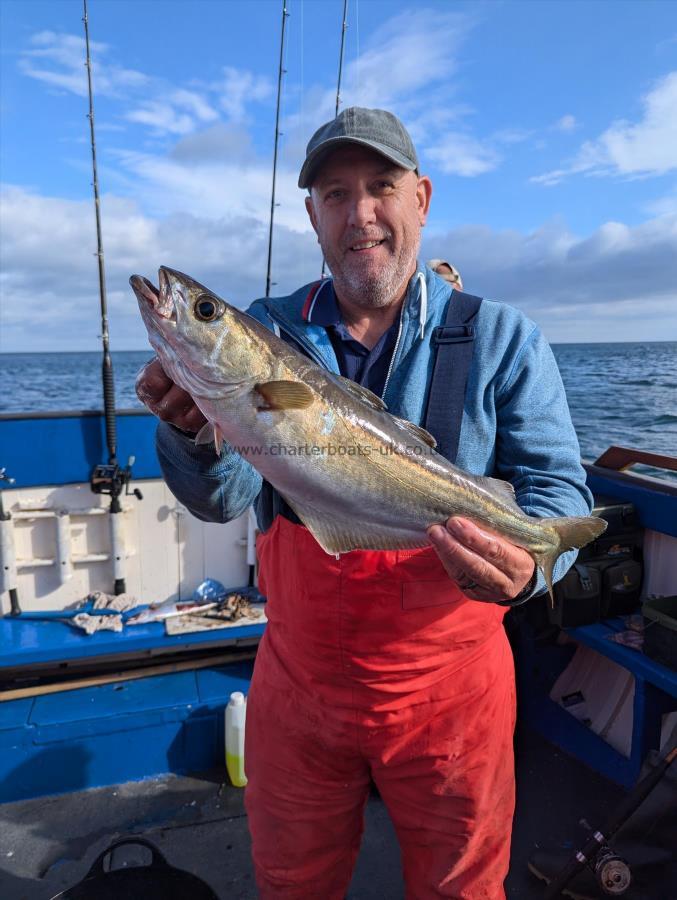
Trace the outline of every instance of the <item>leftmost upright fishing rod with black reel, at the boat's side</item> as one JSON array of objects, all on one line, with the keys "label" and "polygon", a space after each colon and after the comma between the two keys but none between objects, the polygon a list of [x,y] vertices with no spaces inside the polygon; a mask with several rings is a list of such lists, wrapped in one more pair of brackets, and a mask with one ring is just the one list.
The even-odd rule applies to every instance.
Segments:
[{"label": "leftmost upright fishing rod with black reel, at the boat's side", "polygon": [[[99,178],[96,167],[96,135],[94,131],[94,94],[92,91],[92,59],[89,50],[89,17],[87,0],[83,2],[82,21],[85,26],[85,50],[87,69],[87,92],[89,96],[89,133],[92,149],[92,186],[94,188],[94,212],[96,216],[96,258],[99,267],[99,297],[101,301],[101,343],[103,345],[103,361],[101,377],[103,382],[103,407],[106,422],[106,444],[108,447],[108,463],[95,466],[90,479],[90,486],[95,494],[110,496],[111,513],[111,555],[113,557],[113,574],[115,584],[113,592],[124,594],[126,590],[124,573],[124,534],[122,523],[122,504],[120,495],[129,494],[129,482],[132,477],[134,457],[130,456],[127,465],[120,467],[117,458],[117,427],[115,422],[115,382],[113,380],[113,361],[110,355],[108,335],[108,304],[106,300],[106,270],[103,261],[103,237],[101,232],[101,204],[99,201]],[[133,491],[138,500],[143,499],[141,491]]]}]

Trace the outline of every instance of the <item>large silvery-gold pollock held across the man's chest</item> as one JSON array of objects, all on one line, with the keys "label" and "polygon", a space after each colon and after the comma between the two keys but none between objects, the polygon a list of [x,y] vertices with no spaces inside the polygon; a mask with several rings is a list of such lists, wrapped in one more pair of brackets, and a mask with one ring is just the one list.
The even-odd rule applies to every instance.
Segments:
[{"label": "large silvery-gold pollock held across the man's chest", "polygon": [[162,266],[159,290],[130,279],[151,345],[207,425],[284,497],[327,553],[424,547],[426,529],[464,516],[523,547],[543,572],[606,528],[592,516],[527,516],[508,482],[470,475],[423,428],[328,372],[187,275]]}]

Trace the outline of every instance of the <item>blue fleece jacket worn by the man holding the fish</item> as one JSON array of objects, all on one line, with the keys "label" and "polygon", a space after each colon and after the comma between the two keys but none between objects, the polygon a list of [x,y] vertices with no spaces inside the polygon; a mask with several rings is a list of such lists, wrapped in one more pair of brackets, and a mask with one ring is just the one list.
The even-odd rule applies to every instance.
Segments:
[{"label": "blue fleece jacket worn by the man holding the fish", "polygon": [[[427,287],[423,316],[419,273]],[[288,297],[256,300],[247,312],[338,373],[326,329],[303,318],[309,288],[305,285]],[[451,286],[428,267],[419,268],[407,289],[383,397],[389,412],[418,425],[425,414],[434,362],[432,332],[444,323],[449,302],[453,302]],[[517,502],[529,515],[588,515],[592,497],[549,344],[523,313],[493,300],[482,302],[475,326],[456,465],[472,474],[510,481]],[[199,519],[228,522],[255,503],[259,527],[265,531],[280,510],[276,492],[228,445],[216,457],[213,446],[195,446],[190,437],[160,422],[157,451],[172,493]],[[574,559],[575,552],[560,557],[555,579]],[[534,593],[543,589],[540,576]]]}]

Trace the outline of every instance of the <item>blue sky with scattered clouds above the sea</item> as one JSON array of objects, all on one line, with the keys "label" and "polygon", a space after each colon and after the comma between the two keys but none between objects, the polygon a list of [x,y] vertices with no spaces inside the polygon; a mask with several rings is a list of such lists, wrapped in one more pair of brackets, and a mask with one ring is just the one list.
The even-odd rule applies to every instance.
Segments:
[{"label": "blue sky with scattered clouds above the sea", "polygon": [[[273,293],[319,277],[296,186],[334,115],[343,0],[287,0]],[[110,341],[128,285],[265,292],[281,0],[90,0]],[[677,340],[677,3],[349,0],[341,108],[396,113],[433,202],[420,258],[559,342]],[[0,0],[0,351],[97,350],[80,0]]]}]

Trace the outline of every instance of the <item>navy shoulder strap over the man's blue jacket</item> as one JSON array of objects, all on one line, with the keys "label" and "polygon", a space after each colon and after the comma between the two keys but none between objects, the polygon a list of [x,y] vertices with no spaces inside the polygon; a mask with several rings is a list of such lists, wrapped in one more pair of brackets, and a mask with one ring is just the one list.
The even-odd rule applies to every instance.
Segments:
[{"label": "navy shoulder strap over the man's blue jacket", "polygon": [[437,441],[437,452],[456,460],[465,389],[475,341],[475,317],[481,297],[454,290],[444,325],[433,329],[433,376],[424,427]]}]

